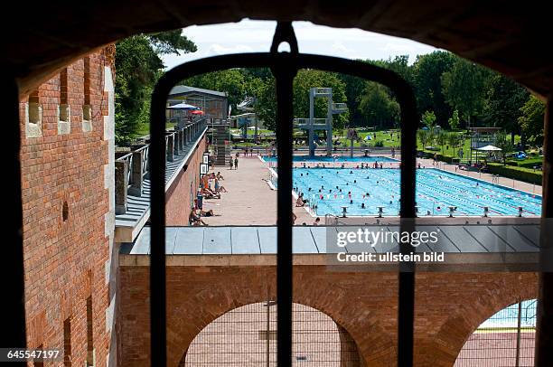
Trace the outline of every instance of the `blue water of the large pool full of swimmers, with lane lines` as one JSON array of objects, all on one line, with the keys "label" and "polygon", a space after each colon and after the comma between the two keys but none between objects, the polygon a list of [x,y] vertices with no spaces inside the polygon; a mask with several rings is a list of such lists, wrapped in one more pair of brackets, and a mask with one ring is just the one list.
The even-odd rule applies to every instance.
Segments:
[{"label": "blue water of the large pool full of swimmers, with lane lines", "polygon": [[[384,215],[398,215],[399,173],[392,168],[339,169],[295,168],[295,192],[316,204],[316,214],[341,215],[342,206],[350,216],[373,216],[383,207]],[[352,201],[352,203],[350,202]],[[541,214],[541,196],[524,193],[497,184],[486,183],[436,168],[417,170],[418,215],[449,215],[456,206],[456,216]],[[364,208],[361,204],[364,203]]]}]

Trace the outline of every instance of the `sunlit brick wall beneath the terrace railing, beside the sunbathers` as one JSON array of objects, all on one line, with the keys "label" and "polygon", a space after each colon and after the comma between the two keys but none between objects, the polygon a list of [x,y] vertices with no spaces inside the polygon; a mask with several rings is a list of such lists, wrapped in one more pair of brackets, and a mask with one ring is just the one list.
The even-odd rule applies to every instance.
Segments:
[{"label": "sunlit brick wall beneath the terrace railing, beside the sunbathers", "polygon": [[[165,193],[166,225],[188,225],[193,198],[196,196],[200,184],[200,165],[206,151],[206,137],[204,136],[188,162],[186,171],[183,171]],[[192,187],[192,197],[191,197]]]}]

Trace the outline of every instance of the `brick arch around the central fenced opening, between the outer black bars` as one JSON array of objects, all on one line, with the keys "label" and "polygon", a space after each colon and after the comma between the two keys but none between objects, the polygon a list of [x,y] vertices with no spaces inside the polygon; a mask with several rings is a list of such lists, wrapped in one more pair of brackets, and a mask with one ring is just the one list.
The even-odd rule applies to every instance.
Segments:
[{"label": "brick arch around the central fenced opening, between the outer black bars", "polygon": [[[293,301],[331,317],[351,335],[361,361],[367,366],[389,366],[396,355],[396,334],[390,332],[390,325],[395,331],[397,287],[388,287],[389,295],[380,296],[376,303],[373,298],[365,301],[359,297],[359,287],[367,283],[366,274],[336,277],[333,273],[324,274],[324,269],[301,271],[298,268],[295,271]],[[197,273],[184,274],[186,270],[183,268],[175,269],[178,276],[173,276],[172,271],[171,268],[167,270],[167,294],[171,295],[167,299],[169,366],[178,366],[193,338],[221,315],[239,306],[266,301],[267,297],[276,298],[276,271],[273,267],[211,270],[202,277],[198,277]],[[179,289],[178,293],[171,289],[172,278],[183,279],[182,283],[174,284]],[[396,279],[397,275],[392,278]],[[341,279],[359,287],[343,287]],[[382,283],[387,281],[388,278],[380,280]],[[375,287],[382,287],[378,284],[378,281],[374,282]],[[375,310],[376,305],[381,305],[378,311]],[[381,323],[382,318],[386,318],[382,309],[389,310],[392,315],[390,325]]]}]

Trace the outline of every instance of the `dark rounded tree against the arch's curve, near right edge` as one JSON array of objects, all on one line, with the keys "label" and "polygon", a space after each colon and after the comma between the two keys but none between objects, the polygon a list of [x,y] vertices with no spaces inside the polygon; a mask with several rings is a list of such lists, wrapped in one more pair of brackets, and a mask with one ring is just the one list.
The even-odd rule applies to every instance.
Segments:
[{"label": "dark rounded tree against the arch's curve, near right edge", "polygon": [[485,118],[493,127],[502,127],[514,136],[520,133],[520,108],[529,98],[529,92],[514,80],[495,73],[487,93]]}]

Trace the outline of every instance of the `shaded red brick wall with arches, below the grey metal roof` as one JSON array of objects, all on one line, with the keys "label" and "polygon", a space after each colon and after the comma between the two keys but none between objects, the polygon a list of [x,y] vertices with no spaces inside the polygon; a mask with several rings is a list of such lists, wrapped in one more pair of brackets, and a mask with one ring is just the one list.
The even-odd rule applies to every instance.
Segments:
[{"label": "shaded red brick wall with arches, below the grey metal roof", "polygon": [[[294,302],[330,315],[367,366],[394,366],[398,277],[295,266]],[[148,268],[120,271],[121,366],[149,366]],[[537,296],[535,273],[418,273],[415,364],[453,366],[473,330],[495,312]],[[206,325],[238,306],[274,299],[274,267],[168,267],[168,366],[177,366]]]}]

